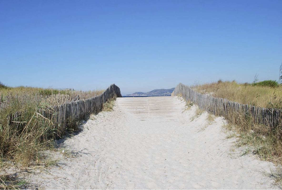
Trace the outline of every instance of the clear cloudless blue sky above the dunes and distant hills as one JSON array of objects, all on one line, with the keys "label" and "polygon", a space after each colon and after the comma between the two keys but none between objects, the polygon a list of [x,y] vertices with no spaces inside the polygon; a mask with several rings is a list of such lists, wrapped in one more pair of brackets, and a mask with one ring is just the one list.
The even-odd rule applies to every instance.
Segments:
[{"label": "clear cloudless blue sky above the dunes and distant hills", "polygon": [[122,94],[279,77],[282,1],[0,1],[0,81]]}]

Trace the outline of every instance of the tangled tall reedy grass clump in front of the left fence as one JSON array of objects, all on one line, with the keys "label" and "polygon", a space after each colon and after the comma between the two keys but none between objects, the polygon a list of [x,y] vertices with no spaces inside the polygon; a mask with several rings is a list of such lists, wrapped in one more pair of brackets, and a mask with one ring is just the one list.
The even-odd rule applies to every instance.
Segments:
[{"label": "tangled tall reedy grass clump in front of the left fence", "polygon": [[[70,126],[57,126],[50,119],[40,114],[44,107],[34,102],[21,104],[13,101],[12,105],[0,111],[0,157],[2,161],[12,160],[18,165],[27,166],[31,161],[41,159],[40,152],[52,147],[53,139],[62,137]],[[13,121],[9,115],[20,112]]]}]

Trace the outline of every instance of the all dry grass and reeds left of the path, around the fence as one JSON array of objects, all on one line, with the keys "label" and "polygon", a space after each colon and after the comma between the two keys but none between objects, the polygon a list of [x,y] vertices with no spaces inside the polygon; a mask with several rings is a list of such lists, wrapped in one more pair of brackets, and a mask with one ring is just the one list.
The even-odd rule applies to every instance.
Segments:
[{"label": "all dry grass and reeds left of the path, around the fence", "polygon": [[[77,96],[80,100],[90,98],[102,92],[103,90],[82,92],[71,89],[11,88],[0,83],[0,105],[5,104],[0,107],[0,170],[7,161],[12,161],[17,166],[38,164],[44,159],[41,152],[54,147],[54,139],[78,130],[80,121],[77,118],[69,117],[65,123],[58,125],[42,116],[41,109],[49,107],[52,112],[52,105],[72,101]],[[19,116],[10,121],[9,117],[16,112],[20,113]]]}]

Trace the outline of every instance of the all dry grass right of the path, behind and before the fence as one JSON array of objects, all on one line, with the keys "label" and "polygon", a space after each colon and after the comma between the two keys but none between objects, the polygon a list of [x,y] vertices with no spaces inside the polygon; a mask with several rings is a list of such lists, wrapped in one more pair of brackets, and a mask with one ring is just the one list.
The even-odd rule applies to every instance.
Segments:
[{"label": "all dry grass right of the path, behind and before the fence", "polygon": [[[265,85],[269,82],[272,84],[271,87]],[[210,94],[234,102],[281,109],[280,93],[282,87],[277,82],[276,84],[273,81],[266,81],[261,85],[261,83],[255,82],[253,84],[239,84],[235,81],[223,82],[219,80],[217,83],[194,86],[193,89],[202,94]],[[252,116],[232,111],[229,111],[225,118],[228,121],[226,129],[233,131],[231,135],[228,135],[228,138],[236,136],[238,137],[236,146],[248,147],[243,154],[252,153],[262,160],[282,164],[281,124],[276,128],[270,128],[266,125],[257,124]],[[272,172],[271,176],[275,178],[277,184],[281,185],[282,172],[279,171],[279,168],[277,168],[277,171]]]}]

